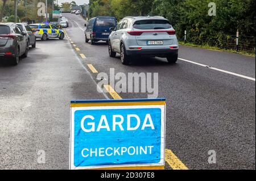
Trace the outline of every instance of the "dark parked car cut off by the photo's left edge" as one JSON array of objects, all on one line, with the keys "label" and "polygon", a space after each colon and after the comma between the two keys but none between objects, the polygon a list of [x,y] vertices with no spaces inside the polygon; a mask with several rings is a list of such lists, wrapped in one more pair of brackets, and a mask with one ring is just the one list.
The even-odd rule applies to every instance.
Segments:
[{"label": "dark parked car cut off by the photo's left edge", "polygon": [[0,60],[8,60],[13,65],[19,57],[27,57],[28,39],[15,23],[0,23]]}]

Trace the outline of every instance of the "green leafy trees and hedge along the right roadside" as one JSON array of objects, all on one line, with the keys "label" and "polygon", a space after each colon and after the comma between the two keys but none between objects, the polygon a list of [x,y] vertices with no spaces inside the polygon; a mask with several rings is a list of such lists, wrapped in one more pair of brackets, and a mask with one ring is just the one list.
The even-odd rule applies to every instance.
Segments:
[{"label": "green leafy trees and hedge along the right roadside", "polygon": [[[255,37],[255,0],[214,0],[216,16],[209,16],[212,0],[91,0],[90,17],[160,15],[169,19],[179,39],[224,47],[237,30]],[[233,41],[233,40],[232,40]]]}]

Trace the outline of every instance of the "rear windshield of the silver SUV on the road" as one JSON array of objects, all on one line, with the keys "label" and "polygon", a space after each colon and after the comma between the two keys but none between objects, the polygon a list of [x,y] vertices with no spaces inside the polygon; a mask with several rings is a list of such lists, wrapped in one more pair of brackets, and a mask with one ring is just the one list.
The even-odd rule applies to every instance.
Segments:
[{"label": "rear windshield of the silver SUV on the road", "polygon": [[168,20],[146,19],[138,20],[133,24],[133,27],[139,30],[162,30],[170,29],[172,26]]}]

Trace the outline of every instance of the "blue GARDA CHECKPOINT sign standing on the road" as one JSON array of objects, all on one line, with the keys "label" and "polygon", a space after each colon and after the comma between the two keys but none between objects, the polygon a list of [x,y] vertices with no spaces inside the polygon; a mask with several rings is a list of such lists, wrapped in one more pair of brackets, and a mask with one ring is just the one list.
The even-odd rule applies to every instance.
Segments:
[{"label": "blue GARDA CHECKPOINT sign standing on the road", "polygon": [[70,169],[163,169],[166,99],[72,100]]}]

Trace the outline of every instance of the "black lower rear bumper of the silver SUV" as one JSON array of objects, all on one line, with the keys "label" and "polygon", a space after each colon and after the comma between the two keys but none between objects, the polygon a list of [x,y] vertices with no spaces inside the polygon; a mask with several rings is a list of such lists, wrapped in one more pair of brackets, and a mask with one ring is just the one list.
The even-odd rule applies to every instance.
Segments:
[{"label": "black lower rear bumper of the silver SUV", "polygon": [[179,49],[141,49],[141,50],[126,50],[127,55],[148,55],[148,56],[160,56],[166,57],[172,54],[178,54]]}]

